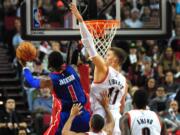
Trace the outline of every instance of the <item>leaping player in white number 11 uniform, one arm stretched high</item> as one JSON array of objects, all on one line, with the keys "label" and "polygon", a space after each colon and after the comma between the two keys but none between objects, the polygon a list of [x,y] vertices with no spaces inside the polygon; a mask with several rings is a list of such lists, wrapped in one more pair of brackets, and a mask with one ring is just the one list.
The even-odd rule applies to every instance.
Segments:
[{"label": "leaping player in white number 11 uniform, one arm stretched high", "polygon": [[[114,119],[117,120],[117,118],[119,119],[121,116],[120,110],[123,112],[127,91],[126,79],[120,73],[121,65],[126,58],[126,53],[120,48],[111,47],[107,51],[105,59],[103,59],[98,55],[93,43],[93,38],[83,22],[83,18],[76,6],[71,4],[71,10],[79,21],[82,43],[95,65],[94,80],[90,91],[91,109],[93,114],[100,114],[102,117],[105,117],[105,112],[102,106],[97,102],[96,98],[101,98],[99,93],[108,89],[110,95],[110,110]],[[117,120],[115,121],[113,135],[119,134],[119,120]]]}]

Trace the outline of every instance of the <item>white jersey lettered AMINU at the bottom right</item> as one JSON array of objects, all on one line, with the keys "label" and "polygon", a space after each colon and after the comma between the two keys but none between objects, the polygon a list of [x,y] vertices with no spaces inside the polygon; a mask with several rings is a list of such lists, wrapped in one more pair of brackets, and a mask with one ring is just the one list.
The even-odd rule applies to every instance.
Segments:
[{"label": "white jersey lettered AMINU at the bottom right", "polygon": [[150,110],[131,110],[128,114],[131,135],[161,134],[161,124],[155,112]]}]

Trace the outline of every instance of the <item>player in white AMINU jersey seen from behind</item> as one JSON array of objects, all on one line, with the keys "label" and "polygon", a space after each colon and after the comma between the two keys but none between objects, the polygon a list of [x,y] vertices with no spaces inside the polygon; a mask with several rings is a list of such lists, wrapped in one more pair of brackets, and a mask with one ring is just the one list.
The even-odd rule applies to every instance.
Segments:
[{"label": "player in white AMINU jersey seen from behind", "polygon": [[121,135],[166,135],[166,128],[158,115],[146,110],[148,96],[144,90],[134,93],[134,110],[120,120]]}]

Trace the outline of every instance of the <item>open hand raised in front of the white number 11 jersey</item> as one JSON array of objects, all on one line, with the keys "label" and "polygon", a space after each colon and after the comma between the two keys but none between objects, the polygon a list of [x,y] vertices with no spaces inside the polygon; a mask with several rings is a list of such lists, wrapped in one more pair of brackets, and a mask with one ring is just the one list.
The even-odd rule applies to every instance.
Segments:
[{"label": "open hand raised in front of the white number 11 jersey", "polygon": [[103,91],[100,93],[102,99],[98,99],[99,103],[105,108],[107,109],[109,107],[109,96],[108,96],[108,92],[107,91]]}]

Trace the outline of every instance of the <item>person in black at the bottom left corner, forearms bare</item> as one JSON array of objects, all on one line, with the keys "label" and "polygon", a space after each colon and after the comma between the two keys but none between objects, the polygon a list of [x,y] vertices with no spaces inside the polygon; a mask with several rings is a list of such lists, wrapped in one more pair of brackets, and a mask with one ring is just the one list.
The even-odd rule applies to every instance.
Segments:
[{"label": "person in black at the bottom left corner, forearms bare", "polygon": [[15,110],[14,99],[8,98],[5,110],[0,113],[0,133],[5,135],[16,135],[19,128],[26,128],[27,124],[22,122],[21,116]]}]

